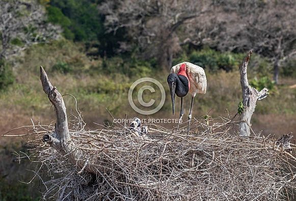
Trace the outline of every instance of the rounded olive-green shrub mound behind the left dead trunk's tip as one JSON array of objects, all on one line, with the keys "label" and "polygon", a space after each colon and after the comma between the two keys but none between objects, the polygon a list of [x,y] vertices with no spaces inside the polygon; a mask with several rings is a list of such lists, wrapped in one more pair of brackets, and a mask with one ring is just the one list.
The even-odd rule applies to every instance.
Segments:
[{"label": "rounded olive-green shrub mound behind the left dead trunk's tip", "polygon": [[[40,62],[42,61],[42,62]],[[50,44],[34,45],[26,51],[24,65],[31,66],[27,71],[37,73],[42,65],[47,70],[79,75],[82,71],[93,69],[100,60],[92,60],[85,55],[82,43],[73,43],[69,40],[53,41]],[[39,66],[38,66],[39,65]]]}]

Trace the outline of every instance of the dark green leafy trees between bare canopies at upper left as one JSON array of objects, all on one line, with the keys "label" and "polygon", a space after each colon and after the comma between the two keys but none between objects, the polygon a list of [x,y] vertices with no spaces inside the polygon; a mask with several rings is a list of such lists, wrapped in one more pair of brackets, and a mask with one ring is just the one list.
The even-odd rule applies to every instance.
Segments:
[{"label": "dark green leafy trees between bare canopies at upper left", "polygon": [[[71,41],[85,42],[87,51],[95,57],[111,57],[115,55],[118,41],[124,39],[124,29],[117,35],[106,33],[103,27],[104,16],[100,15],[97,5],[102,0],[51,0],[46,5],[48,22],[59,24],[63,28],[63,36]],[[95,51],[92,51],[95,49]]]}]

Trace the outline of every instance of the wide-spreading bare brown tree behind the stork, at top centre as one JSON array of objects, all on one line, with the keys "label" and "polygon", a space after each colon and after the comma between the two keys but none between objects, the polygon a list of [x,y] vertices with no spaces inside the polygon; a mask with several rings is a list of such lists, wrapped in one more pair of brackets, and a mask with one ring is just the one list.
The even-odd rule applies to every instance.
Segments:
[{"label": "wide-spreading bare brown tree behind the stork, at top centre", "polygon": [[[211,10],[209,1],[125,0],[107,1],[99,7],[105,15],[107,32],[125,28],[139,45],[143,58],[156,57],[163,68],[172,66],[173,56],[180,50],[180,36],[188,35],[184,27],[195,27],[193,19]],[[132,44],[121,43],[127,51]]]}]

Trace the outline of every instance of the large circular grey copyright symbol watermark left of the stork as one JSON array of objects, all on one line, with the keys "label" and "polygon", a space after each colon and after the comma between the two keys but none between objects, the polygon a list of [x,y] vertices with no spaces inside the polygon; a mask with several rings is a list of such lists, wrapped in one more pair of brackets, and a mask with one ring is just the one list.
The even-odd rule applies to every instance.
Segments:
[{"label": "large circular grey copyright symbol watermark left of the stork", "polygon": [[[157,85],[157,87],[160,89],[160,92],[162,92],[162,99],[160,100],[160,103],[159,105],[152,109],[152,110],[141,110],[140,108],[138,108],[136,105],[134,105],[133,103],[133,100],[132,100],[132,92],[133,92],[133,89],[140,83],[142,82],[151,82],[151,83],[154,83],[155,85]],[[155,92],[155,89],[151,86],[143,86],[139,89],[138,91],[138,101],[139,103],[144,106],[144,107],[150,107],[152,106],[154,103],[155,103],[155,100],[154,99],[150,99],[150,102],[146,103],[143,101],[143,92],[145,90],[150,90],[150,92]],[[140,114],[144,114],[144,115],[150,115],[150,114],[154,114],[155,112],[157,112],[158,110],[160,110],[164,104],[165,104],[165,101],[166,101],[166,92],[165,92],[165,89],[163,87],[162,84],[160,84],[160,82],[158,82],[157,80],[153,79],[153,78],[141,78],[137,81],[135,81],[134,83],[132,83],[132,85],[130,86],[129,88],[129,91],[128,91],[128,102],[129,102],[129,105],[132,107],[132,109]]]}]

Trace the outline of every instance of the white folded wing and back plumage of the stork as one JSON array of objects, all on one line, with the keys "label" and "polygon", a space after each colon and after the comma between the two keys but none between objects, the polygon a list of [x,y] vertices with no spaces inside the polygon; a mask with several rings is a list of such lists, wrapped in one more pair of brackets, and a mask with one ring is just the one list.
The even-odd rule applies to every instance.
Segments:
[{"label": "white folded wing and back plumage of the stork", "polygon": [[182,62],[171,68],[171,73],[178,73],[182,64],[186,64],[186,73],[190,81],[190,93],[205,93],[207,81],[204,69],[190,62]]}]

